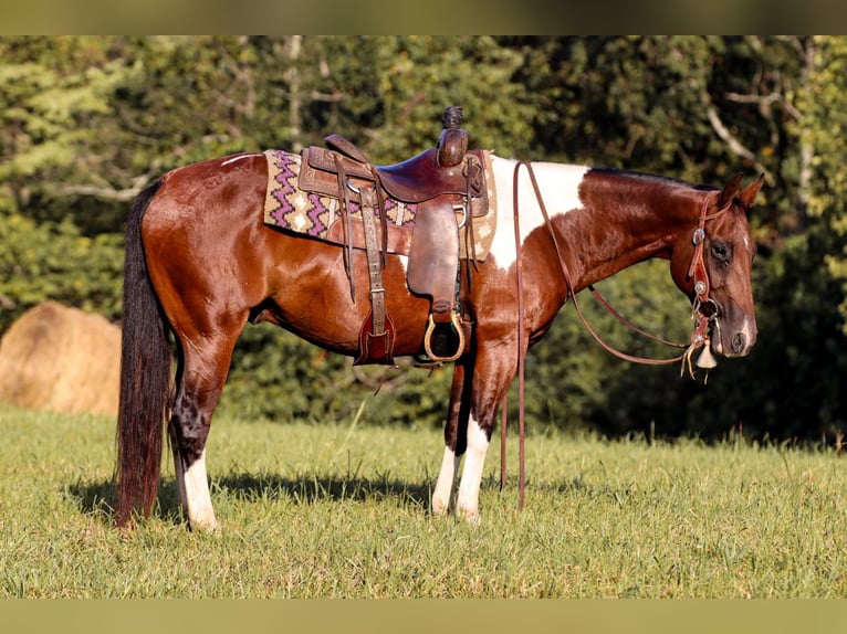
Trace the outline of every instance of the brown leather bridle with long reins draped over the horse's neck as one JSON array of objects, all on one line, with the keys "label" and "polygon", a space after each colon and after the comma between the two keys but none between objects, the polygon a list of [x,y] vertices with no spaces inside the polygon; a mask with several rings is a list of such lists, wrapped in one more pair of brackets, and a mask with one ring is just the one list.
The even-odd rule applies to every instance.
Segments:
[{"label": "brown leather bridle with long reins draped over the horse's neck", "polygon": [[[616,311],[611,305],[599,294],[599,292],[594,288],[593,285],[588,285],[588,289],[592,292],[592,294],[598,299],[598,302],[609,311],[613,316],[615,316],[616,319],[618,319],[620,323],[625,324],[628,328],[634,330],[635,332],[638,332],[639,335],[642,335],[649,339],[652,339],[655,341],[658,341],[660,344],[663,344],[666,346],[670,346],[673,348],[682,348],[683,351],[681,355],[673,357],[671,359],[650,359],[645,357],[637,357],[634,355],[629,355],[627,352],[624,352],[621,350],[618,350],[617,348],[613,347],[611,345],[607,344],[598,334],[597,331],[592,327],[592,325],[588,323],[588,320],[585,318],[585,315],[583,314],[582,308],[579,307],[579,303],[576,298],[576,290],[574,288],[572,278],[571,278],[571,272],[567,268],[567,263],[565,262],[565,258],[563,255],[563,250],[558,243],[558,239],[556,237],[555,231],[553,231],[553,225],[550,221],[550,215],[547,214],[546,205],[544,204],[544,198],[541,194],[541,188],[538,187],[538,182],[535,178],[535,172],[532,169],[532,163],[526,161],[519,161],[515,165],[514,168],[514,175],[513,175],[513,186],[512,186],[512,209],[514,213],[514,239],[515,239],[515,250],[516,250],[516,257],[515,257],[515,271],[516,271],[516,277],[517,277],[517,329],[519,329],[519,337],[517,337],[517,377],[519,377],[519,383],[517,383],[517,395],[519,395],[519,405],[517,405],[517,422],[519,422],[519,467],[520,467],[520,474],[519,474],[519,508],[523,508],[524,504],[524,483],[525,483],[525,471],[524,471],[524,394],[525,394],[525,382],[524,382],[524,357],[526,355],[527,347],[524,346],[524,329],[523,329],[523,323],[524,323],[524,304],[523,304],[523,258],[521,253],[521,230],[519,224],[519,210],[517,210],[517,178],[520,175],[520,170],[522,167],[526,168],[526,171],[530,175],[530,181],[532,182],[533,190],[535,192],[535,198],[538,202],[538,207],[541,209],[541,213],[544,218],[544,224],[548,229],[550,236],[553,241],[554,249],[556,251],[556,256],[558,258],[561,268],[562,268],[562,275],[565,279],[565,285],[567,288],[567,297],[571,298],[571,300],[574,304],[574,308],[579,316],[579,319],[582,320],[585,328],[588,330],[588,332],[594,337],[594,339],[608,352],[613,353],[614,356],[624,359],[626,361],[632,361],[636,363],[644,363],[644,364],[650,364],[650,366],[665,366],[669,363],[676,363],[681,361],[682,362],[682,369],[680,373],[683,373],[686,370],[686,367],[688,367],[689,373],[691,378],[694,378],[694,370],[693,366],[691,363],[691,357],[698,349],[702,348],[703,351],[700,356],[700,359],[698,359],[697,364],[699,367],[707,369],[707,377],[708,377],[708,369],[711,367],[714,367],[715,361],[714,358],[711,355],[710,351],[710,339],[709,339],[709,332],[710,332],[710,326],[713,329],[717,329],[720,331],[720,323],[718,320],[719,310],[718,310],[718,304],[709,297],[709,290],[711,289],[711,284],[709,282],[709,272],[705,267],[705,261],[703,258],[703,246],[705,243],[705,223],[709,220],[713,220],[715,218],[719,218],[723,213],[726,212],[726,210],[730,209],[732,205],[732,200],[726,202],[723,207],[719,208],[717,211],[709,213],[709,202],[711,201],[711,197],[705,196],[703,198],[703,203],[700,207],[700,215],[698,218],[698,224],[697,229],[694,229],[691,242],[694,245],[694,250],[691,256],[691,264],[688,268],[688,278],[693,282],[693,289],[694,289],[694,300],[692,303],[691,308],[691,319],[693,323],[693,330],[691,332],[691,337],[688,344],[675,344],[671,341],[667,341],[662,339],[661,337],[657,337],[655,335],[651,335],[634,324],[631,324],[629,320],[627,320],[623,315],[620,315],[618,311]],[[704,306],[711,306],[712,310],[709,314],[703,313]],[[503,403],[501,406],[501,438],[500,438],[500,488],[502,489],[505,486],[505,435],[506,435],[506,397],[503,397]]]}]

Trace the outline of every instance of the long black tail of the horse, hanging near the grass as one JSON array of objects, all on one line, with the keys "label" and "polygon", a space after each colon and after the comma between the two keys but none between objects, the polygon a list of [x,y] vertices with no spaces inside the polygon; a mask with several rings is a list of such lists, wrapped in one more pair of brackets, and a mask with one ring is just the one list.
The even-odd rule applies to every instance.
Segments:
[{"label": "long black tail of the horse, hanging near the grass", "polygon": [[169,326],[150,284],[142,219],[157,181],[133,204],[126,228],[121,404],[117,414],[117,525],[134,510],[150,514],[161,477],[161,437],[170,392]]}]

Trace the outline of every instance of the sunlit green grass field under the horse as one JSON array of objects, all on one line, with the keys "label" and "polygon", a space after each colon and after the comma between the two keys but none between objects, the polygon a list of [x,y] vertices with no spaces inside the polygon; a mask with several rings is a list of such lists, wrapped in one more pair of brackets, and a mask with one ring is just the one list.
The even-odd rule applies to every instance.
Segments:
[{"label": "sunlit green grass field under the horse", "polygon": [[847,596],[834,451],[533,434],[524,510],[494,443],[471,527],[428,511],[438,431],[221,420],[210,536],[169,462],[154,517],[111,528],[111,420],[0,405],[0,598]]}]

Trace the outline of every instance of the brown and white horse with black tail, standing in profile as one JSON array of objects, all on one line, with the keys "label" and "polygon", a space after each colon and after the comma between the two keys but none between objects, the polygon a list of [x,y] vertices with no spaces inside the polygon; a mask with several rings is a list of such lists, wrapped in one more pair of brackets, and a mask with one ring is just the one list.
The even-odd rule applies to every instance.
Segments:
[{"label": "brown and white horse with black tail, standing in profile", "polygon": [[[433,515],[452,510],[471,522],[480,518],[496,411],[519,362],[582,289],[663,258],[701,324],[699,346],[743,357],[757,335],[749,212],[762,177],[742,187],[736,175],[717,188],[493,152],[489,159],[495,231],[485,258],[458,274],[472,331],[452,362],[445,451],[431,496]],[[266,157],[258,152],[186,165],[161,176],[133,204],[117,423],[119,527],[151,513],[166,427],[189,529],[220,530],[206,442],[248,323],[272,323],[332,352],[359,352],[368,288],[353,290],[349,276],[367,278],[366,254],[264,223],[268,172]],[[430,309],[427,297],[409,289],[408,264],[391,253],[381,264],[398,357],[421,355]]]}]

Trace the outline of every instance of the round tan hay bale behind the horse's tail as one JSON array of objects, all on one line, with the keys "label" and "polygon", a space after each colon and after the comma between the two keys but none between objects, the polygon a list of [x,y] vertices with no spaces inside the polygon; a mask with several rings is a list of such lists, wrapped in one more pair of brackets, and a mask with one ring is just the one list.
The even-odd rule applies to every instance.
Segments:
[{"label": "round tan hay bale behind the horse's tail", "polygon": [[24,313],[0,340],[0,400],[33,410],[117,415],[121,328],[56,302]]}]

